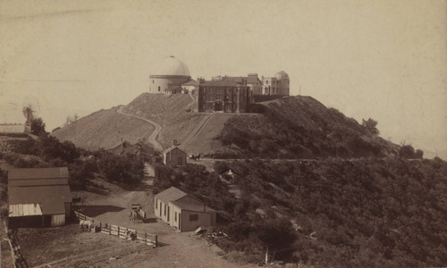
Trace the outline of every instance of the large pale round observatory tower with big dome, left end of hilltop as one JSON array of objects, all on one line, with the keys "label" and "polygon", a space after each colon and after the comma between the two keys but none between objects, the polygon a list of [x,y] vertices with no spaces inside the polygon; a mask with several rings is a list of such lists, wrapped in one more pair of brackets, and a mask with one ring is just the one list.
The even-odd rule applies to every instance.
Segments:
[{"label": "large pale round observatory tower with big dome, left end of hilltop", "polygon": [[150,93],[178,93],[181,84],[191,80],[190,69],[174,56],[167,57],[159,65],[156,74],[149,75]]}]

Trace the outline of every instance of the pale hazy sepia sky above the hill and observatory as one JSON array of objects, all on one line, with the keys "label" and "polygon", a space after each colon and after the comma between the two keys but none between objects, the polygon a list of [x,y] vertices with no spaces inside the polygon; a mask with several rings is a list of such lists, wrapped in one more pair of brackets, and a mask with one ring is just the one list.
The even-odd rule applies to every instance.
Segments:
[{"label": "pale hazy sepia sky above the hill and observatory", "polygon": [[47,130],[126,105],[175,55],[193,78],[286,71],[292,95],[447,149],[446,37],[434,0],[0,1],[0,122],[30,99]]}]

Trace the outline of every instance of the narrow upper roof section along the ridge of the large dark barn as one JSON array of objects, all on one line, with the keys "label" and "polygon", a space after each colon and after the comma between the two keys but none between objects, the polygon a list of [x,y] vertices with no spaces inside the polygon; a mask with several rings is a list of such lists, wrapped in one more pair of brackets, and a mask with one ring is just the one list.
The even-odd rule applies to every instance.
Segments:
[{"label": "narrow upper roof section along the ridge of the large dark barn", "polygon": [[12,169],[8,180],[70,178],[67,167]]}]

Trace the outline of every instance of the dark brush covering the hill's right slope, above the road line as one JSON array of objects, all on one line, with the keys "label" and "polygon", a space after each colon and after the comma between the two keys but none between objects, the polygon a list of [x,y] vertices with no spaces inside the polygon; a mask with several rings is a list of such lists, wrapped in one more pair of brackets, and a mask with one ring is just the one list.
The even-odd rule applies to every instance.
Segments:
[{"label": "dark brush covering the hill's right slope, above the road line", "polygon": [[272,158],[365,157],[395,155],[398,147],[368,134],[358,121],[310,96],[290,96],[260,103],[263,116],[238,116],[225,123],[219,137],[238,155]]}]

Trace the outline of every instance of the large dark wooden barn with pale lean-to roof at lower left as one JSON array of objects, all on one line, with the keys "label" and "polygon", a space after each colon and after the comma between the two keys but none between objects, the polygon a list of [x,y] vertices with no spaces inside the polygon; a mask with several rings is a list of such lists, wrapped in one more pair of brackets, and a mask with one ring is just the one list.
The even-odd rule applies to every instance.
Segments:
[{"label": "large dark wooden barn with pale lean-to roof at lower left", "polygon": [[9,224],[12,227],[55,227],[72,210],[66,167],[12,169],[8,172]]}]

